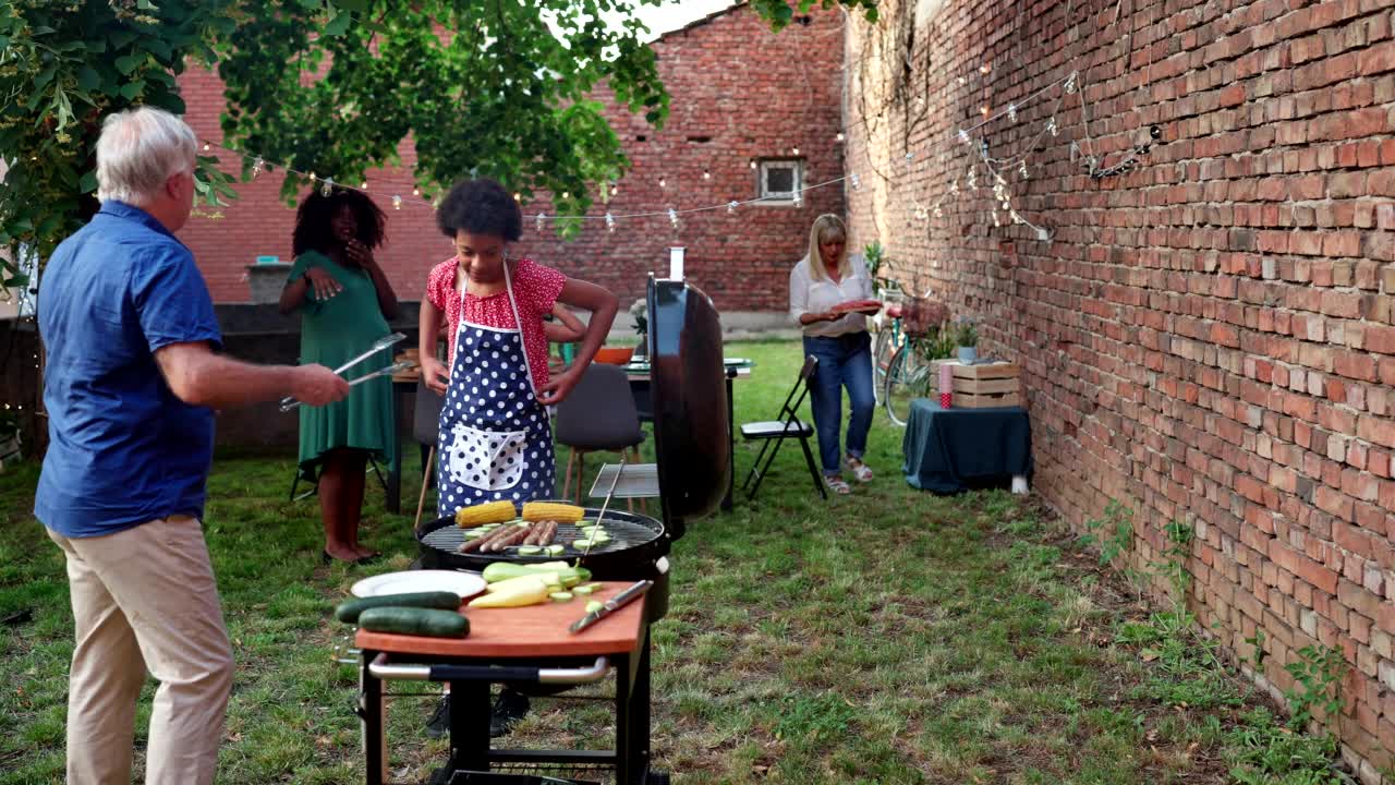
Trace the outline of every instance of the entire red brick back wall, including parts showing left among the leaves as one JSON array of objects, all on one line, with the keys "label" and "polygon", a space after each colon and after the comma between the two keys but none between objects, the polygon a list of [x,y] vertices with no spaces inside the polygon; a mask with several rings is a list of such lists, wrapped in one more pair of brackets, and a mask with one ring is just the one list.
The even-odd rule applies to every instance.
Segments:
[{"label": "entire red brick back wall, including parts showing left among the leaves", "polygon": [[[756,176],[748,161],[790,155],[794,147],[805,159],[805,183],[841,176],[843,145],[837,134],[843,113],[843,14],[816,13],[808,24],[795,22],[771,34],[753,11],[738,7],[672,32],[653,46],[672,96],[671,115],[656,131],[642,116],[608,110],[633,161],[610,210],[615,215],[661,215],[621,218],[614,233],[603,221],[590,221],[579,237],[561,242],[551,222],[543,235],[536,230],[533,217],[538,211],[552,214],[552,207],[545,200],[534,201],[523,205],[527,221],[516,250],[607,286],[628,303],[643,293],[649,271],[668,270],[668,247],[681,244],[688,249],[688,278],[711,295],[718,309],[784,310],[788,270],[804,254],[809,223],[820,212],[843,212],[841,184],[809,191],[799,208],[785,203],[748,205],[735,215],[724,207],[685,215],[677,232],[664,212],[670,205],[684,210],[756,197]],[[190,124],[218,141],[223,110],[219,80],[190,71],[181,88]],[[412,149],[405,148],[405,165],[413,159]],[[234,162],[229,170],[239,168],[240,162]],[[703,179],[704,169],[710,180]],[[661,176],[667,186],[663,191]],[[406,172],[370,173],[368,184],[389,212],[389,240],[379,261],[400,298],[420,299],[431,265],[453,251],[437,232],[431,210],[405,204],[400,212],[392,211],[392,194],[374,189],[378,179],[409,183],[410,177]],[[279,203],[279,177],[269,176],[239,184],[241,198],[222,208],[222,218],[197,215],[181,232],[215,300],[248,299],[244,272],[257,256],[289,260],[294,210]],[[591,215],[600,218],[605,210],[597,203]]]}]

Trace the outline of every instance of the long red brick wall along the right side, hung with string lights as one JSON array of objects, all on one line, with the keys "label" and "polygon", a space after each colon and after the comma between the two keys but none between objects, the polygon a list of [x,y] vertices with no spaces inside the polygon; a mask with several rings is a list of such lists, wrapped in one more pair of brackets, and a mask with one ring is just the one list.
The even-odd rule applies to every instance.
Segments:
[{"label": "long red brick wall along the right side, hung with string lights", "polygon": [[[1374,782],[1395,763],[1391,3],[922,0],[921,24],[905,6],[851,22],[857,242],[979,318],[981,353],[1023,363],[1035,492],[1073,525],[1124,501],[1143,566],[1166,521],[1193,524],[1201,623],[1242,656],[1262,629],[1281,690],[1297,650],[1346,654],[1341,736]],[[1067,95],[1031,177],[1009,179],[1050,242],[993,226],[982,169],[915,217],[968,165],[954,140],[982,105],[1023,103],[986,127],[990,155],[1016,155],[1060,91],[1027,96],[1071,70],[1094,142]],[[1071,162],[1071,140],[1112,165],[1152,124],[1131,173]]]}]

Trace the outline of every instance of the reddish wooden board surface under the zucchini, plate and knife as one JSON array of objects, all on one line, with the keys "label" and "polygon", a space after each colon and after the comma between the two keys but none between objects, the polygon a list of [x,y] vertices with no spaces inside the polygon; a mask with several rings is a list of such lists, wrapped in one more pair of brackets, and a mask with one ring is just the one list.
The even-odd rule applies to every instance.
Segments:
[{"label": "reddish wooden board surface under the zucchini, plate and knife", "polygon": [[462,605],[460,613],[470,620],[470,634],[465,638],[428,638],[359,630],[354,645],[399,654],[494,659],[626,654],[639,645],[647,594],[580,633],[572,634],[568,627],[586,615],[587,602],[591,599],[605,602],[631,584],[632,581],[603,581],[603,588],[590,596],[576,595],[571,602],[547,602],[525,608]]}]

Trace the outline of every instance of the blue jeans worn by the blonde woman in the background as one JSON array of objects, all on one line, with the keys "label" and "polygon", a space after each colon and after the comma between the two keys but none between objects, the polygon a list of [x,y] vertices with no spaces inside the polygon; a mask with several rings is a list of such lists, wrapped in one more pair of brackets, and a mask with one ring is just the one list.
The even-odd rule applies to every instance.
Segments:
[{"label": "blue jeans worn by the blonde woman in the background", "polygon": [[838,427],[843,425],[843,388],[848,388],[851,415],[848,416],[848,455],[861,458],[868,448],[872,412],[872,337],[852,332],[837,338],[806,337],[805,355],[819,358],[819,369],[809,380],[809,408],[813,427],[819,434],[819,460],[824,475],[841,469]]}]

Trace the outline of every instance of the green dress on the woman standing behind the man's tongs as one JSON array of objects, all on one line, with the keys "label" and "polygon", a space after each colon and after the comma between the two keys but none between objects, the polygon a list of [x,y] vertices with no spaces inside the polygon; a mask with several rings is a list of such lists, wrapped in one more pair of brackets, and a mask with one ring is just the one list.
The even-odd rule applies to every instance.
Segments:
[{"label": "green dress on the woman standing behind the man's tongs", "polygon": [[[307,289],[297,309],[300,320],[300,362],[336,369],[361,355],[374,341],[388,335],[388,320],[378,306],[372,278],[360,268],[335,263],[318,251],[306,251],[290,268],[287,284],[311,267],[322,267],[343,291],[328,300],[317,300]],[[392,365],[395,348],[382,349],[342,373],[350,381]],[[300,471],[314,480],[315,468],[325,451],[336,447],[368,450],[378,461],[389,462],[396,454],[396,418],[392,408],[392,379],[381,376],[350,388],[349,397],[328,406],[300,406]]]}]

